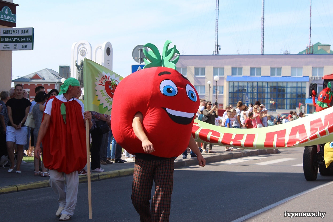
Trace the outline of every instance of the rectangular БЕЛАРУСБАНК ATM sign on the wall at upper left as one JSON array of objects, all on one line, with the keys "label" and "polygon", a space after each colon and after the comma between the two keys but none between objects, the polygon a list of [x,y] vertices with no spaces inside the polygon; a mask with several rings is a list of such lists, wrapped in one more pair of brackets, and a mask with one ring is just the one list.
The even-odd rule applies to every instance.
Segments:
[{"label": "rectangular \u0411\u0415\u041b\u0410\u0420\u0423\u0421\u0411\u0410\u041d\u041a ATM sign on the wall at upper left", "polygon": [[34,50],[34,28],[1,28],[0,50]]}]

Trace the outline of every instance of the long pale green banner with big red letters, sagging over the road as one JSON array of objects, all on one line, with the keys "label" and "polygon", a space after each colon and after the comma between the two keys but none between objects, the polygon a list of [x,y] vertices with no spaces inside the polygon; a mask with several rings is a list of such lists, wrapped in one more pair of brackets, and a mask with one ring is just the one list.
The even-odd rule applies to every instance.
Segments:
[{"label": "long pale green banner with big red letters, sagging over the road", "polygon": [[333,107],[279,125],[236,129],[195,119],[192,135],[198,142],[248,149],[312,146],[333,141]]}]

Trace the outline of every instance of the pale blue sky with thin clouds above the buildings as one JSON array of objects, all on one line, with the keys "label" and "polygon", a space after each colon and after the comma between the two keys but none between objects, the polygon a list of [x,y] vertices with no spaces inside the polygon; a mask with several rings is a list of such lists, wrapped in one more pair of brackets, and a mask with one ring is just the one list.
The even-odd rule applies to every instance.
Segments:
[{"label": "pale blue sky with thin clouds above the buildings", "polygon": [[[113,71],[131,73],[132,50],[166,40],[183,55],[209,55],[215,45],[215,0],[14,0],[17,27],[34,27],[34,50],[13,51],[13,79],[70,65],[74,42],[113,46]],[[266,0],[264,54],[297,54],[309,44],[310,0]],[[260,54],[261,0],[219,3],[220,54]],[[332,45],[333,1],[312,0],[312,43]],[[333,49],[333,45],[331,47]]]}]

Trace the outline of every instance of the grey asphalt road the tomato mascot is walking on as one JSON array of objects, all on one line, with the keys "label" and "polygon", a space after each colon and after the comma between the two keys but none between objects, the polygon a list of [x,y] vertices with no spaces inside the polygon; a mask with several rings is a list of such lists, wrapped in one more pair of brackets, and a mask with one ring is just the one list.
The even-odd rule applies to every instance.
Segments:
[{"label": "grey asphalt road the tomato mascot is walking on", "polygon": [[[170,221],[333,221],[333,184],[315,189],[267,211],[246,215],[285,198],[325,185],[333,176],[306,181],[304,148],[175,169]],[[88,219],[87,184],[79,185],[71,221],[140,221],[131,202],[132,176],[92,183],[93,219]],[[51,188],[0,195],[1,221],[58,221],[57,196]],[[319,217],[284,217],[284,212],[326,212]]]}]

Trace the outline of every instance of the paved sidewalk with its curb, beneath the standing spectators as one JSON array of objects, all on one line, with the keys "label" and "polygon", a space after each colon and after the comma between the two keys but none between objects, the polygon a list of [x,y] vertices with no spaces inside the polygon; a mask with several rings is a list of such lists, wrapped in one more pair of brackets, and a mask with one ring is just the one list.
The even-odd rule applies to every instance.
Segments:
[{"label": "paved sidewalk with its curb, beneath the standing spectators", "polygon": [[[224,151],[224,146],[213,146],[215,153],[203,153],[203,157],[207,163],[218,162],[226,159],[235,159],[245,156],[255,156],[263,154],[278,153],[277,149],[235,149],[233,151]],[[125,156],[122,157],[125,160]],[[174,167],[180,168],[184,166],[197,165],[196,158],[192,158],[188,153],[186,159],[182,159],[182,155],[175,159]],[[9,167],[0,168],[0,194],[18,192],[24,190],[38,189],[49,187],[48,177],[34,176],[34,163],[22,163],[21,173],[15,171],[8,173]],[[87,166],[85,167],[87,169]],[[113,163],[101,165],[105,171],[102,173],[91,173],[91,181],[99,181],[120,176],[133,175],[134,162]],[[87,182],[87,176],[79,176],[79,182]]]}]

